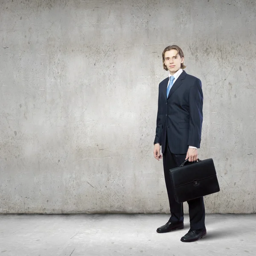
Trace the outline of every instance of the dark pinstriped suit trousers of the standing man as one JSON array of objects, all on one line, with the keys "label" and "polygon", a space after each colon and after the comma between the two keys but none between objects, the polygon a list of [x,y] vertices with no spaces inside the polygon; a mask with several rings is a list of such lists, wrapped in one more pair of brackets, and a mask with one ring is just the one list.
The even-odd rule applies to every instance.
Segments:
[{"label": "dark pinstriped suit trousers of the standing man", "polygon": [[[180,166],[185,161],[186,154],[173,154],[166,140],[166,150],[163,154],[163,170],[166,182],[166,189],[169,198],[171,218],[169,219],[172,223],[177,223],[184,220],[183,216],[183,203],[179,204],[175,201],[174,189],[170,177],[170,169]],[[189,220],[190,230],[198,230],[205,228],[205,209],[204,209],[204,198],[196,198],[187,201],[189,204]]]}]

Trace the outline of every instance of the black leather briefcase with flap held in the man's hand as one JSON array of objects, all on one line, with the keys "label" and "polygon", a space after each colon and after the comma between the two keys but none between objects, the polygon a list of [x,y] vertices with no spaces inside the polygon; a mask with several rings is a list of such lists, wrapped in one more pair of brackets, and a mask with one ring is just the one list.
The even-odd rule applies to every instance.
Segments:
[{"label": "black leather briefcase with flap held in the man's hand", "polygon": [[212,158],[189,162],[170,169],[175,200],[183,203],[220,191]]}]

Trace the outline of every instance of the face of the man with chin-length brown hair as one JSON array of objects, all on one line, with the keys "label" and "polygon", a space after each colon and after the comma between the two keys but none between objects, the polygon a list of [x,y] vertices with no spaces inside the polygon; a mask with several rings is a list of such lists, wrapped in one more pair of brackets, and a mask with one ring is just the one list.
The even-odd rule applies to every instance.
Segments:
[{"label": "face of the man with chin-length brown hair", "polygon": [[180,58],[180,55],[175,49],[167,51],[164,54],[164,64],[166,64],[171,75],[175,74],[180,69],[181,63],[183,62],[184,58]]}]

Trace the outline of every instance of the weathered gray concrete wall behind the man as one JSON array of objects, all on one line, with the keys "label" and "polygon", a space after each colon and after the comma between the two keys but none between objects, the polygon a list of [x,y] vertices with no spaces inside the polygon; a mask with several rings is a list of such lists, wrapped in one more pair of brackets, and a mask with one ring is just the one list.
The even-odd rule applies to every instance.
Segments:
[{"label": "weathered gray concrete wall behind the man", "polygon": [[206,211],[256,212],[255,20],[255,0],[2,0],[0,212],[169,212],[153,141],[170,44],[203,85]]}]

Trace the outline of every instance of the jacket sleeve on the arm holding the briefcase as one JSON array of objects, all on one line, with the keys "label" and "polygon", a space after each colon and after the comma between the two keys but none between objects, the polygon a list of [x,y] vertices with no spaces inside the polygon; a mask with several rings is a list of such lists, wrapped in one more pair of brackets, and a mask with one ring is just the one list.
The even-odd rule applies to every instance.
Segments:
[{"label": "jacket sleeve on the arm holding the briefcase", "polygon": [[200,79],[189,89],[189,140],[188,145],[200,148],[203,123],[203,91]]}]

